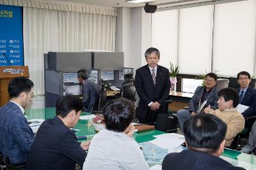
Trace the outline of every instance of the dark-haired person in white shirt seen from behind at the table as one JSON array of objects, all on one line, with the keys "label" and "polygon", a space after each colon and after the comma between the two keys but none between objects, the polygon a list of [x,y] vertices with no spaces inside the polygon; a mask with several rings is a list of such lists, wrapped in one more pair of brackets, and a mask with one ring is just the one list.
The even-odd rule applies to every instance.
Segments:
[{"label": "dark-haired person in white shirt seen from behind at the table", "polygon": [[104,106],[106,129],[93,137],[83,170],[149,169],[140,146],[132,138],[134,112],[134,105],[124,98]]}]

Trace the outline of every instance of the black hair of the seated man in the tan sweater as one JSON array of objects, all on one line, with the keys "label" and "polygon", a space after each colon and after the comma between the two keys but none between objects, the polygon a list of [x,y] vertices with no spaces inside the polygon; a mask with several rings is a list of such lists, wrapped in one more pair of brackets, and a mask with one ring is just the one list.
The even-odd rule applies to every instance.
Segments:
[{"label": "black hair of the seated man in the tan sweater", "polygon": [[239,94],[237,90],[233,88],[224,88],[218,92],[218,97],[223,97],[225,101],[233,101],[233,107],[236,108],[239,102]]}]

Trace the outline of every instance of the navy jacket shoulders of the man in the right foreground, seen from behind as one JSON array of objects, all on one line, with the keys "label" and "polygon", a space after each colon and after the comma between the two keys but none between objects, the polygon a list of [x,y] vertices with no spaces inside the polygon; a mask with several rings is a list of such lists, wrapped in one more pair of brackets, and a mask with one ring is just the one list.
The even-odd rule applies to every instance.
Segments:
[{"label": "navy jacket shoulders of the man in the right foreground, seen from behind", "polygon": [[162,170],[238,170],[242,167],[235,167],[223,160],[209,153],[194,152],[191,150],[184,150],[180,153],[169,153],[164,157]]}]

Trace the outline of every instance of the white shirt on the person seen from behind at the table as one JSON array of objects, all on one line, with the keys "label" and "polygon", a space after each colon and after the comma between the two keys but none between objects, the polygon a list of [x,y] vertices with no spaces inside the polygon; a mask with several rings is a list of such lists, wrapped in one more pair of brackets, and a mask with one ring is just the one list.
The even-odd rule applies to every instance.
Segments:
[{"label": "white shirt on the person seen from behind at the table", "polygon": [[140,147],[123,132],[103,129],[93,136],[83,170],[149,170]]}]

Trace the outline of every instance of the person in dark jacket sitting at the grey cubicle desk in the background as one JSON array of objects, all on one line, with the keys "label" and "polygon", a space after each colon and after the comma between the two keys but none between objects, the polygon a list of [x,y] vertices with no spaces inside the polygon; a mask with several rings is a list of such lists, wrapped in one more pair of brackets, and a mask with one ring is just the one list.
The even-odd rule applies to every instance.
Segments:
[{"label": "person in dark jacket sitting at the grey cubicle desk in the background", "polygon": [[79,83],[82,83],[83,107],[84,111],[91,113],[99,101],[99,88],[96,83],[88,80],[88,71],[81,69],[77,72]]}]

